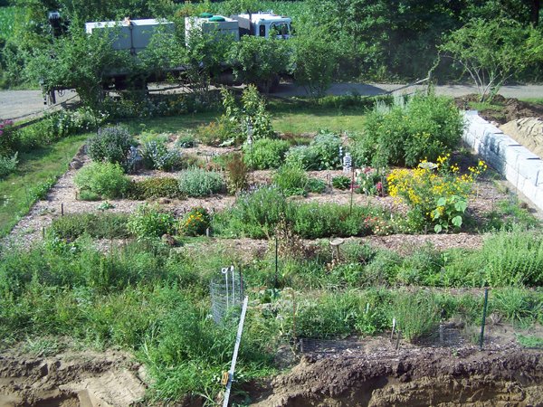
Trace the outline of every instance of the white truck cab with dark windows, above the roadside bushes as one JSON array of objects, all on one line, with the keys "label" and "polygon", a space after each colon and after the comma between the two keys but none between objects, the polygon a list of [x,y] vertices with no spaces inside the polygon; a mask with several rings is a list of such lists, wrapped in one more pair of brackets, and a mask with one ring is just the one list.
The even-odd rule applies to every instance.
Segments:
[{"label": "white truck cab with dark windows, above the roadside bushes", "polygon": [[288,39],[291,38],[291,23],[290,17],[273,14],[271,11],[236,14],[231,18],[236,20],[240,26],[240,35],[254,35],[256,37],[270,38],[271,33],[274,33],[276,38]]}]

